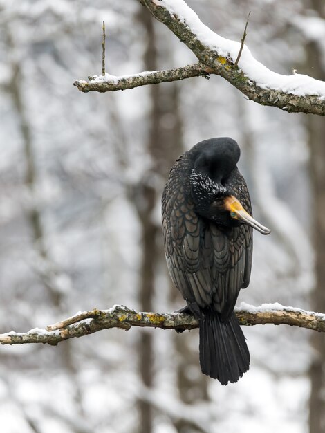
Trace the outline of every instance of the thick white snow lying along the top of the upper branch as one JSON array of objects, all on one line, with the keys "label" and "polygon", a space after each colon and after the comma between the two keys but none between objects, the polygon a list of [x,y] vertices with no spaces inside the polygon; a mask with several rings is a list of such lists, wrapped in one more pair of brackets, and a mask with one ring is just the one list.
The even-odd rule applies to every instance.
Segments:
[{"label": "thick white snow lying along the top of the upper branch", "polygon": [[[230,57],[233,61],[239,53],[240,42],[225,39],[214,33],[209,27],[205,26],[198,18],[198,15],[187,6],[183,0],[161,0],[160,6],[164,6],[173,15],[177,15],[180,21],[183,21],[197,35],[198,39],[215,50],[222,57]],[[239,68],[250,77],[250,80],[256,82],[262,89],[274,89],[293,95],[317,95],[325,98],[325,82],[315,80],[308,75],[293,73],[293,75],[281,75],[270,71],[263,64],[254,59],[247,46],[243,47],[241,58],[239,59]]]}]

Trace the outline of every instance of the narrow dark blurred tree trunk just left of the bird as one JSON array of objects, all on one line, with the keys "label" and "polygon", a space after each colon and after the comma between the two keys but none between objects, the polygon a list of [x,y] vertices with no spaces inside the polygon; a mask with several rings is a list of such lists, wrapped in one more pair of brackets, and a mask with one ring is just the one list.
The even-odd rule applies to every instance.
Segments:
[{"label": "narrow dark blurred tree trunk just left of the bird", "polygon": [[[154,71],[157,68],[156,37],[154,19],[149,14],[139,12],[138,20],[147,33],[147,46],[144,55],[145,69]],[[157,86],[150,89],[151,113],[149,117],[149,134],[146,149],[151,156],[153,170],[158,166],[157,149],[162,145],[159,134],[159,120],[161,118],[159,92]],[[133,204],[136,206],[142,230],[142,263],[140,268],[140,308],[153,311],[153,297],[155,288],[154,270],[158,261],[156,246],[157,225],[154,223],[153,212],[158,199],[154,182],[154,172],[147,173],[136,186],[133,193]],[[152,387],[154,380],[154,351],[152,334],[140,334],[138,353],[140,353],[139,371],[142,382],[146,387]],[[140,423],[139,433],[151,433],[153,430],[152,407],[149,402],[139,400]]]}]

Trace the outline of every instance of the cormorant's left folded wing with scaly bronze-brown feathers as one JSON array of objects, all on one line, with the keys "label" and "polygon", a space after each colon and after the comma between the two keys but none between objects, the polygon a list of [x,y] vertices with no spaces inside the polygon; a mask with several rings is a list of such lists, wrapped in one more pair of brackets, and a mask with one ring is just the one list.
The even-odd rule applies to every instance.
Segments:
[{"label": "cormorant's left folded wing with scaly bronze-brown feathers", "polygon": [[196,304],[203,308],[212,299],[212,240],[205,240],[204,224],[185,189],[171,172],[163,194],[163,232],[169,273],[195,313]]}]

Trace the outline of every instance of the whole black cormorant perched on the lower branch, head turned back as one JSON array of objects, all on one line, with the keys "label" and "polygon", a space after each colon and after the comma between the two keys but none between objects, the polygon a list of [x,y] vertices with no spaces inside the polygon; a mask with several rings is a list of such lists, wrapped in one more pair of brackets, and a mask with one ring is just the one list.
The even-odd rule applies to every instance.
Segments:
[{"label": "whole black cormorant perched on the lower branch, head turned back", "polygon": [[199,320],[200,364],[222,385],[250,365],[250,353],[234,306],[250,282],[250,194],[236,167],[240,149],[232,138],[210,138],[185,152],[171,168],[163,192],[163,233],[169,273]]}]

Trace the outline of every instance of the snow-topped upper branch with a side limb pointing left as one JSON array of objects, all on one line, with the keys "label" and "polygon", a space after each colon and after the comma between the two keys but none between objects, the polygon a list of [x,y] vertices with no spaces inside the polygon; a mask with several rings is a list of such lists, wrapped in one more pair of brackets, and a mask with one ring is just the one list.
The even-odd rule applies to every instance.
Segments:
[{"label": "snow-topped upper branch with a side limb pointing left", "polygon": [[[241,47],[240,42],[225,39],[205,26],[183,0],[138,1],[192,50],[200,64],[180,68],[181,78],[177,77],[175,72],[178,70],[145,72],[127,78],[113,77],[113,80],[111,75],[91,77],[89,82],[74,83],[80,91],[132,89],[135,86],[183,80],[210,73],[225,78],[250,100],[259,104],[277,107],[290,113],[304,112],[325,116],[325,82],[307,75],[281,75],[270,71],[254,59],[247,46]],[[200,68],[204,73],[198,73]],[[133,78],[136,85],[133,85]]]}]

